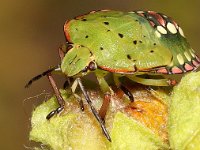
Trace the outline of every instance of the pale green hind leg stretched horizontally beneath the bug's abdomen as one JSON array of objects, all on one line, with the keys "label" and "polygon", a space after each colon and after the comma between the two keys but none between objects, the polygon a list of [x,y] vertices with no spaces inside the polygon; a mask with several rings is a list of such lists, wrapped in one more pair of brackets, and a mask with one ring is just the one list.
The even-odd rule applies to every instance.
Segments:
[{"label": "pale green hind leg stretched horizontally beneath the bug's abdomen", "polygon": [[145,79],[142,77],[138,77],[135,75],[126,75],[129,79],[141,83],[144,85],[152,85],[152,86],[173,86],[176,84],[176,81],[173,79]]}]

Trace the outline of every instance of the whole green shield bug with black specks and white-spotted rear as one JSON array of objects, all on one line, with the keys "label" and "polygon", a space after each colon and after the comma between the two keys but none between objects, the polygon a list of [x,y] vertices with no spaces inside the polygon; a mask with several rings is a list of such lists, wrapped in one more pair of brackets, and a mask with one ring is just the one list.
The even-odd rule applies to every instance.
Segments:
[{"label": "whole green shield bug with black specks and white-spotted rear", "polygon": [[[50,119],[65,106],[51,73],[62,72],[73,78],[72,92],[80,86],[109,141],[111,138],[103,123],[113,94],[104,79],[108,73],[113,74],[116,85],[133,100],[132,94],[120,83],[121,76],[145,85],[170,86],[175,84],[173,80],[146,79],[141,75],[182,74],[194,71],[200,65],[199,57],[190,47],[180,26],[170,17],[154,11],[92,11],[68,20],[64,32],[67,44],[65,50],[59,50],[61,64],[34,77],[26,87],[47,75],[60,105],[49,113],[47,119]],[[91,72],[96,75],[105,94],[99,112],[93,107],[81,82],[81,78]]]}]

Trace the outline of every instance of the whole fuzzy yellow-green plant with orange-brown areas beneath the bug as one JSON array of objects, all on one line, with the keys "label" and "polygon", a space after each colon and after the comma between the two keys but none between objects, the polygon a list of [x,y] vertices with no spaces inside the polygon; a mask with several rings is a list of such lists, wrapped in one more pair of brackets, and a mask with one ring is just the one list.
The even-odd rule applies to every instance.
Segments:
[{"label": "whole fuzzy yellow-green plant with orange-brown areas beneath the bug", "polygon": [[[81,111],[70,90],[60,90],[65,110],[50,120],[46,120],[47,114],[58,107],[55,97],[35,108],[30,140],[50,150],[200,149],[200,72],[185,75],[172,91],[127,86],[135,101],[131,103],[115,90],[105,118],[112,142],[103,135],[84,97],[85,110]],[[99,110],[101,92],[89,89],[88,93]]]}]

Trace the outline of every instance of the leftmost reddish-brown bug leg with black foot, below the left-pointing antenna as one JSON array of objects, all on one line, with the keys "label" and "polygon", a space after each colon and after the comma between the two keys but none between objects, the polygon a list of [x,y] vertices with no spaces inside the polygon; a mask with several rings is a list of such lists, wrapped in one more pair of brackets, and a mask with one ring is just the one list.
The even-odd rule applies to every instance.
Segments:
[{"label": "leftmost reddish-brown bug leg with black foot, below the left-pointing antenna", "polygon": [[55,93],[55,95],[56,95],[56,98],[57,98],[57,101],[58,101],[58,104],[59,104],[59,107],[58,107],[57,109],[51,111],[51,112],[47,115],[46,119],[49,120],[49,119],[50,119],[52,116],[54,116],[56,113],[58,114],[58,113],[60,113],[60,112],[64,109],[65,101],[63,100],[63,98],[62,98],[62,96],[61,96],[61,93],[60,93],[60,91],[59,91],[59,89],[58,89],[58,87],[57,87],[57,85],[56,85],[56,82],[54,81],[54,79],[53,79],[51,73],[48,73],[48,74],[47,74],[47,78],[49,79],[49,82],[50,82],[50,84],[51,84],[51,86],[52,86],[52,88],[53,88],[53,90],[54,90],[54,93]]}]

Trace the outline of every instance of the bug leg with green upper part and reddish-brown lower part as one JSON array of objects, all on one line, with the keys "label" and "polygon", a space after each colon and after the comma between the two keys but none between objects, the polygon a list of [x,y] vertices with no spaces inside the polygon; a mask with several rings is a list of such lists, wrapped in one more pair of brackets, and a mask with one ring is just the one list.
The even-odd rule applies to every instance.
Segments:
[{"label": "bug leg with green upper part and reddish-brown lower part", "polygon": [[104,93],[104,99],[103,99],[103,104],[99,110],[99,115],[101,116],[102,119],[105,118],[106,112],[108,110],[109,107],[109,103],[110,103],[110,98],[111,98],[111,94],[113,94],[113,90],[109,87],[108,83],[106,82],[106,80],[104,79],[104,76],[106,74],[102,73],[102,72],[95,72],[97,80],[99,82],[101,91]]}]

